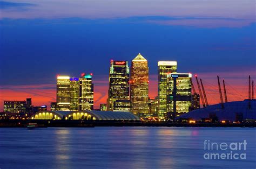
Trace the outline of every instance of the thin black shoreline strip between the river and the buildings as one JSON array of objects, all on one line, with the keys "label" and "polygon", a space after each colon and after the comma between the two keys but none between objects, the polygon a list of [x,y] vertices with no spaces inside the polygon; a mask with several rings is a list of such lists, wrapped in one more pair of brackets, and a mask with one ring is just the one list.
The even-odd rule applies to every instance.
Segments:
[{"label": "thin black shoreline strip between the river and the buildings", "polygon": [[81,127],[81,128],[93,128],[97,126],[152,126],[152,127],[227,127],[227,128],[254,128],[256,123],[171,123],[171,122],[140,122],[140,121],[81,121],[81,120],[10,120],[1,119],[0,128],[27,128],[29,123],[37,123],[36,128],[47,127]]}]

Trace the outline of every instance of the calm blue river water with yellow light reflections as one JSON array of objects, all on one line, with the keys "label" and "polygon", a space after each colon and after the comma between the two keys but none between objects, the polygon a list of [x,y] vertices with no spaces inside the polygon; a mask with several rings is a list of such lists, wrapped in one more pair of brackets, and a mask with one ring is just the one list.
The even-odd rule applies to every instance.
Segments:
[{"label": "calm blue river water with yellow light reflections", "polygon": [[[204,140],[246,159],[204,159]],[[243,147],[243,146],[242,146]],[[214,151],[230,153],[227,151]],[[0,128],[0,168],[255,168],[254,128]]]}]

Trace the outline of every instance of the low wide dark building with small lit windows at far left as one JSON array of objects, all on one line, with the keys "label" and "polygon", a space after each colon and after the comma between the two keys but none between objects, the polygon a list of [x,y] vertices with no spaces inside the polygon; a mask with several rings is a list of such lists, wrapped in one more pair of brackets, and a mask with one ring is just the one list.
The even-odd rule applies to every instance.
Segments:
[{"label": "low wide dark building with small lit windows at far left", "polygon": [[4,101],[4,112],[25,112],[26,101]]}]

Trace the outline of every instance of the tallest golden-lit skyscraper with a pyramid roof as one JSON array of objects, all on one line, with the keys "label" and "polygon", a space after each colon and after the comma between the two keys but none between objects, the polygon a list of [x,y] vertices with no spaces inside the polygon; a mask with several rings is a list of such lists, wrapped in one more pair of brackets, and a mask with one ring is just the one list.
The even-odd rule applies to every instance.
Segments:
[{"label": "tallest golden-lit skyscraper with a pyramid roof", "polygon": [[133,114],[147,115],[149,113],[149,67],[147,67],[147,60],[140,53],[132,60],[130,87]]}]

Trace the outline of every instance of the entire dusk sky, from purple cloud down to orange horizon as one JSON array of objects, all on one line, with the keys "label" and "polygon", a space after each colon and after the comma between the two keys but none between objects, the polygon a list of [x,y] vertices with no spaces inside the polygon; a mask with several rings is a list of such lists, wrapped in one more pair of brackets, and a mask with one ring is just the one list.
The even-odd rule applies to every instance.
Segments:
[{"label": "entire dusk sky, from purple cloud down to orange horizon", "polygon": [[[107,98],[110,60],[149,62],[150,97],[157,61],[203,79],[219,103],[217,75],[228,101],[248,95],[256,79],[255,1],[16,0],[0,1],[0,111],[4,100],[49,106],[56,75],[93,73],[95,107]],[[196,81],[193,79],[194,85]]]}]

